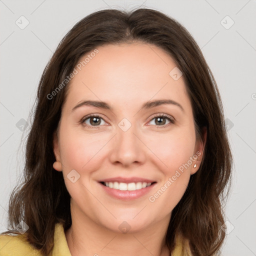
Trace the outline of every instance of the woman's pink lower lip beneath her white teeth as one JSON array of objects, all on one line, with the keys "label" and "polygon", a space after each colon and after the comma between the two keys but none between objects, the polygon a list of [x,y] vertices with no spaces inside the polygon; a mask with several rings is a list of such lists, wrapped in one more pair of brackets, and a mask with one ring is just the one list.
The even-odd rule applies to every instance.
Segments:
[{"label": "woman's pink lower lip beneath her white teeth", "polygon": [[130,191],[130,190],[119,190],[119,189],[109,188],[108,186],[105,186],[100,182],[98,183],[104,189],[104,191],[106,191],[106,193],[108,193],[109,195],[111,195],[116,199],[122,199],[122,200],[132,200],[132,199],[139,198],[147,194],[152,189],[152,187],[156,184],[156,183],[153,183],[150,186]]}]

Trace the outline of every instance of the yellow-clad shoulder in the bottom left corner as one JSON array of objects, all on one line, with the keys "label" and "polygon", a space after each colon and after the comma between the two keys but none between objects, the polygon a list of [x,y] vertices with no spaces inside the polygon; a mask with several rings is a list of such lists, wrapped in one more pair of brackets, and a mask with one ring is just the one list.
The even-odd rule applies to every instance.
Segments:
[{"label": "yellow-clad shoulder in the bottom left corner", "polygon": [[40,256],[41,254],[32,247],[23,234],[0,234],[0,255]]}]

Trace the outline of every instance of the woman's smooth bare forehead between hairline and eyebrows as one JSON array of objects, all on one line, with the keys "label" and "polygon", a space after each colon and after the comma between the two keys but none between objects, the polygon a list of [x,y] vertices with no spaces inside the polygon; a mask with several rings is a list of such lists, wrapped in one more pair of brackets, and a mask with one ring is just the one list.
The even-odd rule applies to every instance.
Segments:
[{"label": "woman's smooth bare forehead between hairline and eyebrows", "polygon": [[122,43],[97,50],[78,61],[78,72],[68,85],[68,102],[94,99],[127,105],[171,98],[189,104],[184,102],[188,100],[184,80],[169,75],[176,64],[163,49],[146,43]]}]

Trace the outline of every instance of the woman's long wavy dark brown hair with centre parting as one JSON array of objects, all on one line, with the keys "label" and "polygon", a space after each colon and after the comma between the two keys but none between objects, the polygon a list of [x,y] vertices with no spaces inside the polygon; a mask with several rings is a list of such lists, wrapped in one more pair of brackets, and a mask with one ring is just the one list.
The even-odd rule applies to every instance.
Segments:
[{"label": "woman's long wavy dark brown hair with centre parting", "polygon": [[[52,141],[66,97],[64,84],[54,98],[49,94],[72,72],[85,53],[104,44],[144,42],[165,50],[183,73],[191,100],[196,138],[207,137],[198,171],[174,207],[165,242],[173,250],[175,236],[189,240],[193,255],[219,251],[225,233],[224,200],[230,188],[232,155],[227,140],[220,95],[201,50],[189,32],[175,19],[153,9],[132,11],[105,9],[77,22],[64,36],[45,67],[37,90],[37,105],[26,144],[24,181],[11,193],[9,225],[23,220],[27,240],[43,255],[53,246],[54,225],[71,225],[70,195],[62,172],[55,171]],[[205,142],[205,141],[204,141]],[[224,188],[226,193],[224,193]],[[6,231],[11,232],[11,231]]]}]

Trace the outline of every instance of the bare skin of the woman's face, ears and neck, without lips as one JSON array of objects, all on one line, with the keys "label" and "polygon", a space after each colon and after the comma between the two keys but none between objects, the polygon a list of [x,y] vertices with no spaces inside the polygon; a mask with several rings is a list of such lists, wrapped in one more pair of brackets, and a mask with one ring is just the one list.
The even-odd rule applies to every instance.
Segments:
[{"label": "bare skin of the woman's face, ears and neck, without lips", "polygon": [[[155,45],[132,43],[97,49],[68,85],[53,141],[53,167],[63,172],[71,196],[72,225],[65,232],[69,250],[72,256],[168,255],[164,235],[171,211],[190,175],[199,168],[204,146],[195,139],[185,83],[182,76],[175,81],[169,75],[176,64]],[[143,103],[156,99],[172,99],[184,111],[173,104],[141,109]],[[71,111],[82,100],[105,101],[112,110],[84,105]],[[101,122],[96,126],[91,119],[80,123],[88,114],[100,115]],[[157,124],[154,117],[161,114],[173,117],[175,123],[163,119]],[[118,127],[123,118],[131,124],[127,131]],[[200,156],[150,202],[148,197],[197,151]],[[74,183],[67,178],[72,169],[80,174]],[[116,176],[145,177],[157,183],[140,198],[121,200],[106,194],[98,183]],[[130,226],[127,233],[118,228],[123,221]]]}]

